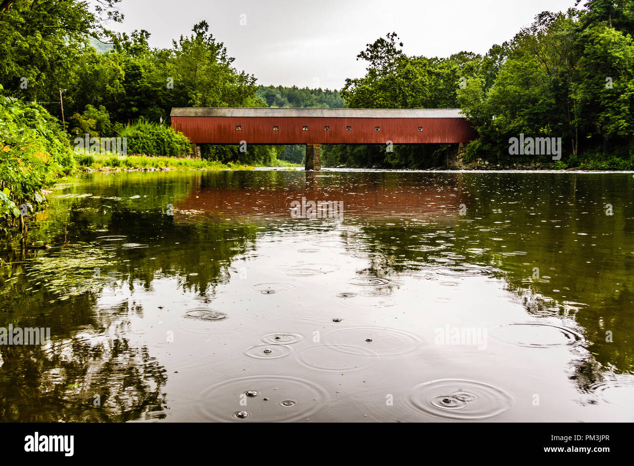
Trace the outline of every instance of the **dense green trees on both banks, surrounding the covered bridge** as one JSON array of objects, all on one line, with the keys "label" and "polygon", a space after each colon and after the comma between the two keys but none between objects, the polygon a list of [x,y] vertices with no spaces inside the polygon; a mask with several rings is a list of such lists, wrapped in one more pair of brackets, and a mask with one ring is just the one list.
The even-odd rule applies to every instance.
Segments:
[{"label": "dense green trees on both banks, surrounding the covered bridge", "polygon": [[[202,21],[170,48],[149,33],[115,34],[120,0],[16,0],[0,8],[0,83],[5,95],[39,102],[64,119],[72,141],[126,137],[128,153],[182,156],[168,129],[173,107],[462,108],[479,132],[466,160],[541,160],[555,168],[634,168],[634,0],[588,0],[566,13],[544,12],[511,41],[481,56],[407,56],[396,33],[357,56],[366,75],[340,91],[257,86],[233,67],[223,42]],[[578,1],[579,4],[579,1]],[[63,114],[60,106],[63,99]],[[30,127],[34,129],[34,127]],[[562,160],[509,155],[509,139],[561,137]],[[60,143],[63,137],[59,136]],[[450,145],[324,146],[324,165],[433,168]],[[210,162],[299,163],[303,148],[205,146]],[[65,166],[65,165],[63,165]]]}]

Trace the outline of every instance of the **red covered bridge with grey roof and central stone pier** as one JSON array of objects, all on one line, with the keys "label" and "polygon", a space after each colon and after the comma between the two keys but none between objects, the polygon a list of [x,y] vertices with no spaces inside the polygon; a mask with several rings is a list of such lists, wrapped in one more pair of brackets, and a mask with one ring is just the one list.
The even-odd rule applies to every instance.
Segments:
[{"label": "red covered bridge with grey roof and central stone pier", "polygon": [[459,108],[172,108],[172,127],[198,144],[306,144],[319,170],[321,144],[467,143]]}]

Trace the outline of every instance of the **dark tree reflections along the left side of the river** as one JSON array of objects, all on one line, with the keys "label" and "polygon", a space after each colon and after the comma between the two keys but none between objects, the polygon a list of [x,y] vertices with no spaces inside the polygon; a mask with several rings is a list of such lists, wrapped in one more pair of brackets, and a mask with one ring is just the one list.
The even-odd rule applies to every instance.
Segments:
[{"label": "dark tree reflections along the left side of the river", "polygon": [[[190,189],[189,183],[183,184]],[[123,186],[119,199],[66,198],[51,208],[44,227],[53,249],[8,249],[0,288],[0,326],[50,327],[53,342],[44,347],[0,347],[0,420],[126,421],[165,416],[165,369],[147,347],[131,344],[125,316],[141,315],[124,301],[101,311],[104,290],[152,287],[159,276],[176,276],[178,287],[212,293],[228,278],[233,257],[245,254],[255,228],[230,223],[184,222],[161,214],[178,192],[134,205],[138,186]],[[105,197],[112,196],[107,186]],[[181,193],[182,194],[182,193]],[[124,198],[123,196],[127,197]],[[108,230],[98,232],[95,230]],[[39,233],[44,235],[43,232]],[[98,236],[122,235],[122,242]],[[37,239],[37,231],[34,238]],[[149,247],[124,247],[138,243]],[[38,259],[34,260],[34,257]],[[107,261],[105,261],[107,259]],[[100,276],[94,276],[94,268]],[[57,271],[55,273],[55,271]],[[94,406],[94,396],[100,406]]]}]

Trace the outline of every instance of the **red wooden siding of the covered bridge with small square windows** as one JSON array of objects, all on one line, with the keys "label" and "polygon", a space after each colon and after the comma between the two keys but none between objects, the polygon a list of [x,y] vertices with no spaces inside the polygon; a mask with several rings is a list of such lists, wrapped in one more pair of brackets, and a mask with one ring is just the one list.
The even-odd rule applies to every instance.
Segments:
[{"label": "red wooden siding of the covered bridge with small square windows", "polygon": [[[236,126],[242,130],[236,131]],[[278,131],[273,131],[273,126]],[[308,130],[303,131],[302,126]],[[330,126],[325,131],[324,126]],[[346,131],[351,126],[351,131]],[[380,131],[375,131],[375,126]],[[418,131],[422,126],[422,131]],[[172,116],[172,127],[192,143],[394,144],[467,143],[476,133],[464,118]]]}]

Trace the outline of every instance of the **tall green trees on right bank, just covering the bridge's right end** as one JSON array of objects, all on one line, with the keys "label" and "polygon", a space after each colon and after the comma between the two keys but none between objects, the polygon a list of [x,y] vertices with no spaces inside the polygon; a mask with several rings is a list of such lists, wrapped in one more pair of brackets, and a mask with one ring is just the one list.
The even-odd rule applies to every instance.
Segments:
[{"label": "tall green trees on right bank, just covering the bridge's right end", "polygon": [[[474,61],[458,102],[479,131],[469,157],[504,160],[519,134],[561,137],[559,165],[634,168],[634,2],[541,13]],[[495,79],[487,60],[500,62]],[[534,155],[548,160],[547,156]]]}]

